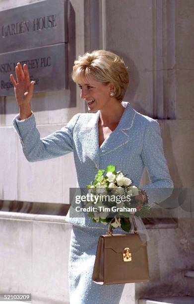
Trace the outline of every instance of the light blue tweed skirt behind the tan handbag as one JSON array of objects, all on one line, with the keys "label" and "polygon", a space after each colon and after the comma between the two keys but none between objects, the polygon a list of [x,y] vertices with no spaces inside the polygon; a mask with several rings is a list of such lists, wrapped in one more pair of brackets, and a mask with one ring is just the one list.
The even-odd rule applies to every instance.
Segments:
[{"label": "light blue tweed skirt behind the tan handbag", "polygon": [[[72,226],[68,263],[70,304],[119,304],[125,284],[98,285],[92,281],[99,236],[104,229]],[[114,233],[126,233],[114,230]]]}]

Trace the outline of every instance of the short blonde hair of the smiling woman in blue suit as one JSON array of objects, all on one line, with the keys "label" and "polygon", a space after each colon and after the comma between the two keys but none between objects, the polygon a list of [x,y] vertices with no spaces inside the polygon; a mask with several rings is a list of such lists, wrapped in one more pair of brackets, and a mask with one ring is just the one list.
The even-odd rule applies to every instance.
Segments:
[{"label": "short blonde hair of the smiling woman in blue suit", "polygon": [[114,97],[122,101],[129,84],[127,67],[118,55],[105,50],[85,53],[74,61],[72,79],[81,83],[92,76],[95,80],[114,86]]}]

